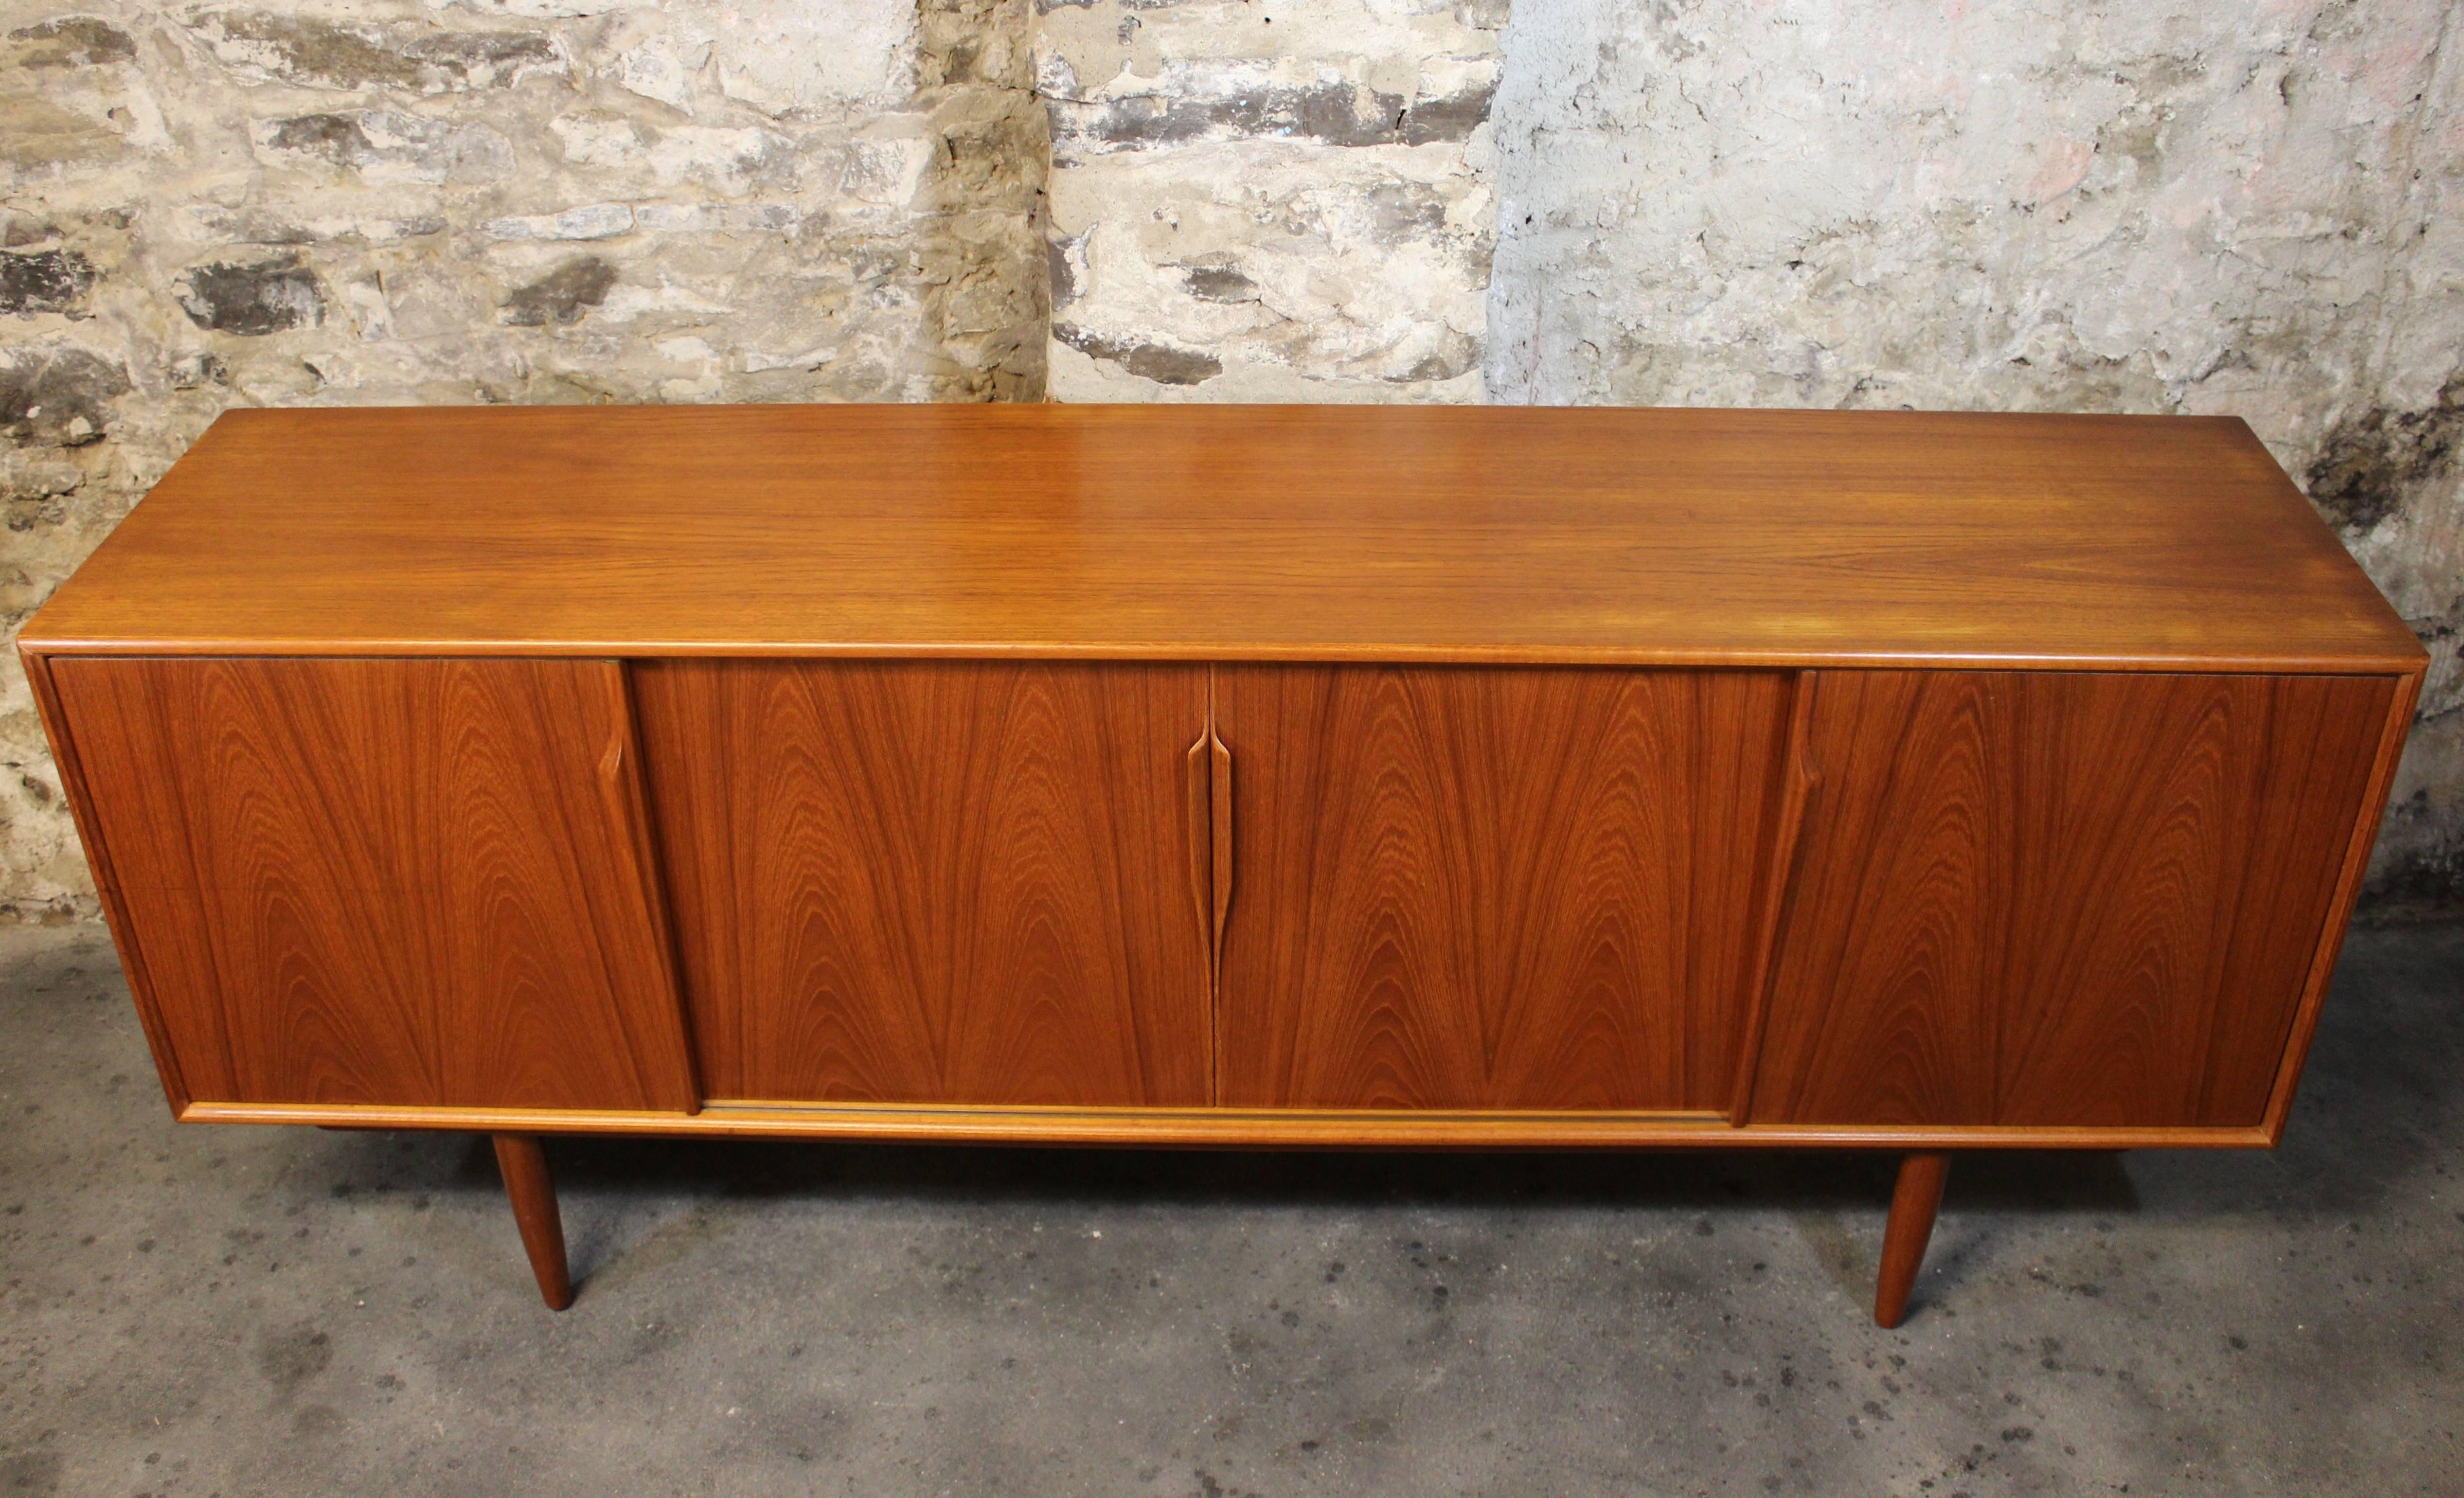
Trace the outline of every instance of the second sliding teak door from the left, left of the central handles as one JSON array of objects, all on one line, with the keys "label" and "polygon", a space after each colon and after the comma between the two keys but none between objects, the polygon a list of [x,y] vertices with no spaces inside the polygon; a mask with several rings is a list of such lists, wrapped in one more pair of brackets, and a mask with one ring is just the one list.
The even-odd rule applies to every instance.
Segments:
[{"label": "second sliding teak door from the left, left of the central handles", "polygon": [[1205,1104],[1205,668],[636,673],[712,1096]]}]

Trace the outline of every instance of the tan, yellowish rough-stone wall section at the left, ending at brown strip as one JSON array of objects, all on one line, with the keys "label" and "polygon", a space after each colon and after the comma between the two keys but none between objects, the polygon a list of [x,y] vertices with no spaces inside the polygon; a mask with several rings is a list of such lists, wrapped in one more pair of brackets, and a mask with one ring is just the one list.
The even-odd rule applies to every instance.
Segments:
[{"label": "tan, yellowish rough-stone wall section at the left, ending at brown strip", "polygon": [[[10,631],[227,404],[1040,397],[1027,39],[1027,0],[0,2]],[[15,655],[0,771],[0,902],[89,914]]]}]

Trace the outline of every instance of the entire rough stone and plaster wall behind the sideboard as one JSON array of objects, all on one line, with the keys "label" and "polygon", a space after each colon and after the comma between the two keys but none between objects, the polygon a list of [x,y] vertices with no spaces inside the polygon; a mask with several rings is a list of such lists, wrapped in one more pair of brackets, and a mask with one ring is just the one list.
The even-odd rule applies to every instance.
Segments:
[{"label": "entire rough stone and plaster wall behind the sideboard", "polygon": [[[0,613],[234,402],[2232,411],[2437,655],[2373,877],[2452,902],[2449,32],[2434,0],[0,0]],[[0,771],[0,909],[91,914],[15,660]]]}]

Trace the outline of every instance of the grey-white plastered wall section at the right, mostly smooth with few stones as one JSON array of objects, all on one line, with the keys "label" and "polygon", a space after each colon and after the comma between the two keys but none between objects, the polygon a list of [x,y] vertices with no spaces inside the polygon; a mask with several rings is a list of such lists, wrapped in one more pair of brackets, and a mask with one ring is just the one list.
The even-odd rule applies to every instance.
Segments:
[{"label": "grey-white plastered wall section at the right, mostly smooth with few stones", "polygon": [[1488,397],[2245,416],[2434,653],[2464,872],[2464,37],[2437,0],[1515,0]]}]

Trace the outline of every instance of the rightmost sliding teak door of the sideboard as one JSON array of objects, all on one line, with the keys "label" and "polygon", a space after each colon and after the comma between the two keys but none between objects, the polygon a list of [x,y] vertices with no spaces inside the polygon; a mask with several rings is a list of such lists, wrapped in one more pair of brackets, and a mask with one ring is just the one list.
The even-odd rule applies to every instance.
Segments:
[{"label": "rightmost sliding teak door of the sideboard", "polygon": [[2393,695],[1823,673],[1754,1121],[2257,1126]]}]

